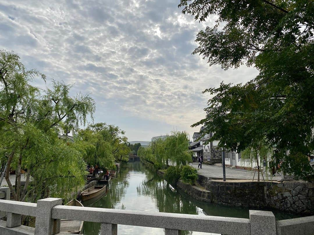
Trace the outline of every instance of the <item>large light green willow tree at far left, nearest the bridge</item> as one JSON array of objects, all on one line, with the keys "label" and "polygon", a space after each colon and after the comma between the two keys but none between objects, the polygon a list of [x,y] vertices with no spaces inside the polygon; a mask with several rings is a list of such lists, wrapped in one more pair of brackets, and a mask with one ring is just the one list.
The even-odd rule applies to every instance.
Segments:
[{"label": "large light green willow tree at far left, nearest the bridge", "polygon": [[[31,85],[37,70],[26,70],[13,52],[0,50],[0,160],[6,165],[5,179],[16,201],[30,201],[66,194],[84,184],[85,163],[80,146],[58,138],[66,128],[77,131],[94,100],[79,93],[69,96],[71,86],[52,81],[52,88]],[[9,179],[16,171],[15,187]],[[27,173],[21,185],[21,171]]]}]

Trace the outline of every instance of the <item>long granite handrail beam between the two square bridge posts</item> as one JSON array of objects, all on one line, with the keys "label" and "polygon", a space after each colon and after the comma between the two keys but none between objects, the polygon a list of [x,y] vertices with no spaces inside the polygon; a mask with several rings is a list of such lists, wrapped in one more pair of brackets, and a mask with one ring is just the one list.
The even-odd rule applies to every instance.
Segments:
[{"label": "long granite handrail beam between the two square bridge posts", "polygon": [[250,220],[163,212],[139,212],[94,207],[55,206],[52,218],[109,224],[190,230],[223,234],[250,234]]}]

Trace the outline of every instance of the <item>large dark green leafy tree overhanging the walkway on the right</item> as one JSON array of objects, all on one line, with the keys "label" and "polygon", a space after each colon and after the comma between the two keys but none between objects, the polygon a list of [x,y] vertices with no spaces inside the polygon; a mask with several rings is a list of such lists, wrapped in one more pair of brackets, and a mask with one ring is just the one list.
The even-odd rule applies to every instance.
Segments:
[{"label": "large dark green leafy tree overhanging the walkway on the right", "polygon": [[[205,108],[201,134],[238,152],[265,138],[283,156],[288,174],[313,173],[307,158],[313,152],[314,2],[307,0],[181,0],[182,13],[214,27],[201,30],[193,54],[225,70],[255,66],[257,77],[246,84],[207,89],[214,97]],[[223,23],[223,27],[219,24]]]}]

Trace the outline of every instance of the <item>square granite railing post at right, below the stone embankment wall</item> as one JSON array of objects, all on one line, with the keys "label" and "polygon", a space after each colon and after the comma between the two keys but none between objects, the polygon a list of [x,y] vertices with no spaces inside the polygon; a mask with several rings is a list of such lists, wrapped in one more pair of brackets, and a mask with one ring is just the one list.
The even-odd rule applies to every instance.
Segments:
[{"label": "square granite railing post at right, below the stone embankment wall", "polygon": [[251,235],[276,235],[276,220],[273,212],[249,210]]}]

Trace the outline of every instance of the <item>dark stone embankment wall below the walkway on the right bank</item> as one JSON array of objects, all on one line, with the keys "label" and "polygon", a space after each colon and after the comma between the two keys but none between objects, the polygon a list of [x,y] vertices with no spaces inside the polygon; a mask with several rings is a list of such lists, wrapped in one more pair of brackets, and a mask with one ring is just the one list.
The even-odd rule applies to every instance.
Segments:
[{"label": "dark stone embankment wall below the walkway on the right bank", "polygon": [[[198,183],[210,192],[211,201],[219,204],[314,214],[313,183],[223,182],[202,175]],[[208,197],[204,201],[208,201]]]}]

